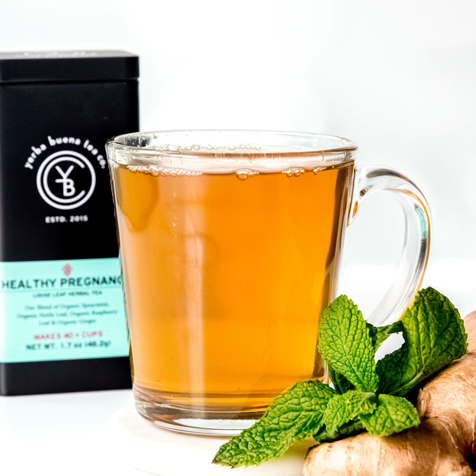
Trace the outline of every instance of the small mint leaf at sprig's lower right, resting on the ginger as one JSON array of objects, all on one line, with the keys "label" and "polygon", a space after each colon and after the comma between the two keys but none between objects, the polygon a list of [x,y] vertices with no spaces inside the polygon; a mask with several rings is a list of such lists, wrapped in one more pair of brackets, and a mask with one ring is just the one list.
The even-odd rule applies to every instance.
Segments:
[{"label": "small mint leaf at sprig's lower right, resting on the ginger", "polygon": [[420,424],[417,409],[406,398],[385,394],[378,396],[377,410],[360,419],[374,436],[388,436]]}]

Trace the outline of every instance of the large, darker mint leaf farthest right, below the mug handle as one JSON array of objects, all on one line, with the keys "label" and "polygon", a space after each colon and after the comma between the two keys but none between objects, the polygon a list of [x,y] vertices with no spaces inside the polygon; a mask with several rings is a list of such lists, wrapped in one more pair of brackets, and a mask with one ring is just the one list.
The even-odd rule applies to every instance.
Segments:
[{"label": "large, darker mint leaf farthest right, below the mug handle", "polygon": [[422,380],[466,353],[465,327],[449,299],[418,291],[401,318],[405,343],[377,363],[380,392],[403,397]]}]

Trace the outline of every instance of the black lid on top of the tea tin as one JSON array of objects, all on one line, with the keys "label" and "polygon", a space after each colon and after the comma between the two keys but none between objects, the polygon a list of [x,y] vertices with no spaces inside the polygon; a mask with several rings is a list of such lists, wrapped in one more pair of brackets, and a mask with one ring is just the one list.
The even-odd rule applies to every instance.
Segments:
[{"label": "black lid on top of the tea tin", "polygon": [[0,83],[137,78],[139,56],[127,51],[0,52]]}]

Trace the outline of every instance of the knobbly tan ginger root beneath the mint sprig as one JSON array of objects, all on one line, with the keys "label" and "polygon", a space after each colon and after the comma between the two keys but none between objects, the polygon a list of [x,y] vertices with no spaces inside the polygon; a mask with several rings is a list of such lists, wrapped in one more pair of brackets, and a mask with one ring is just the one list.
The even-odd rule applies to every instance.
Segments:
[{"label": "knobbly tan ginger root beneath the mint sprig", "polygon": [[304,476],[476,476],[476,311],[464,323],[467,353],[419,390],[417,428],[314,446]]}]

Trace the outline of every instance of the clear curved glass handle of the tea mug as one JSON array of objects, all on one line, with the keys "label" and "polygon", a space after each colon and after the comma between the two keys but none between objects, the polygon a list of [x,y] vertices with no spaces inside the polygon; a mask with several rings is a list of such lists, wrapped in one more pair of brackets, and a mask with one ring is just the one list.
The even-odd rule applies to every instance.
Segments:
[{"label": "clear curved glass handle of the tea mug", "polygon": [[395,277],[383,299],[368,317],[369,322],[381,326],[399,319],[421,286],[430,253],[431,215],[420,189],[397,170],[379,166],[358,167],[349,225],[362,201],[376,192],[392,194],[405,215],[405,240]]}]

